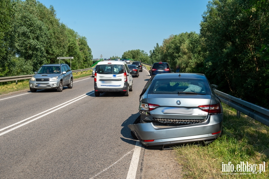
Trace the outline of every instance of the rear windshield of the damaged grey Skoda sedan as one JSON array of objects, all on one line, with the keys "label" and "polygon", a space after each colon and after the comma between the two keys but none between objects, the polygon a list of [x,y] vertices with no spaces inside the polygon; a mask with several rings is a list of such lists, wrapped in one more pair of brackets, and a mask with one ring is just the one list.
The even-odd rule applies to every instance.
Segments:
[{"label": "rear windshield of the damaged grey Skoda sedan", "polygon": [[210,88],[205,79],[154,79],[149,94],[208,94]]}]

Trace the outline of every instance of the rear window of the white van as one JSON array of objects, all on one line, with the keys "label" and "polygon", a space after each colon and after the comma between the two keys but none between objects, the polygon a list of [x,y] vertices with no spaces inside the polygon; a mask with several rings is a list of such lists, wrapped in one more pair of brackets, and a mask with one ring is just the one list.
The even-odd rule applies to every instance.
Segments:
[{"label": "rear window of the white van", "polygon": [[122,74],[124,73],[123,65],[105,64],[97,65],[96,73],[98,74]]}]

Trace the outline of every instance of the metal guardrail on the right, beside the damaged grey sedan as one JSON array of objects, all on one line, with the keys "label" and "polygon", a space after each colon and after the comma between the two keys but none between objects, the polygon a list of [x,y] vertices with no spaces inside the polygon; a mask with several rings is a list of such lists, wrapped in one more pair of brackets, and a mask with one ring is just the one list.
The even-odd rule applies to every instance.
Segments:
[{"label": "metal guardrail on the right, beside the damaged grey sedan", "polygon": [[218,90],[214,90],[214,91],[215,91],[215,94],[221,100],[221,102],[263,123],[264,125],[269,126],[269,109],[263,108],[253,103],[230,96],[229,94],[225,94]]}]

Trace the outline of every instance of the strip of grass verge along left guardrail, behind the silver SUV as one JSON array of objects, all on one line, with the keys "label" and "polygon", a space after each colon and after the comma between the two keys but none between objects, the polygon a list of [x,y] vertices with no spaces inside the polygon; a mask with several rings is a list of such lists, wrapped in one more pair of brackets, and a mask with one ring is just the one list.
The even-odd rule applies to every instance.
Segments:
[{"label": "strip of grass verge along left guardrail, behind the silver SUV", "polygon": [[[74,79],[82,78],[82,77],[87,77],[91,76],[92,70],[89,71],[82,71],[82,72],[73,72],[73,77]],[[1,94],[7,94],[7,93],[12,93],[16,91],[21,91],[29,89],[29,80],[20,80],[18,81],[18,84],[16,82],[7,84],[7,85],[0,85],[0,95]]]}]

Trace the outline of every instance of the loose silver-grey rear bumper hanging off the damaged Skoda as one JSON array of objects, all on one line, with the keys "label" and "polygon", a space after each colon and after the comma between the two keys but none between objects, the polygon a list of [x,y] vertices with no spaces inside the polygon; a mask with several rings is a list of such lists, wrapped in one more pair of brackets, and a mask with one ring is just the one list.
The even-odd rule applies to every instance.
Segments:
[{"label": "loose silver-grey rear bumper hanging off the damaged Skoda", "polygon": [[[222,130],[222,121],[215,121],[211,117],[203,124],[186,126],[154,126],[152,123],[131,124],[128,127],[146,147],[171,146],[174,144],[206,142],[218,138]],[[164,148],[163,148],[164,149]]]}]

